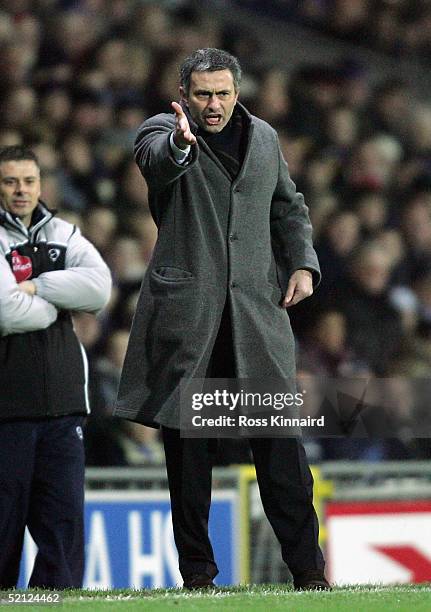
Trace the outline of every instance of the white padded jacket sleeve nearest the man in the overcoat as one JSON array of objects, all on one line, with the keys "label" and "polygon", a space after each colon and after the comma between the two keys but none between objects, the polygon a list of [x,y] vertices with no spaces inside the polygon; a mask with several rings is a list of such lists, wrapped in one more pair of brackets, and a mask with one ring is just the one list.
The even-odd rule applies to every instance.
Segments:
[{"label": "white padded jacket sleeve nearest the man in the overcoat", "polygon": [[98,312],[111,294],[108,266],[76,227],[68,240],[65,269],[44,272],[33,282],[38,296],[64,310]]}]

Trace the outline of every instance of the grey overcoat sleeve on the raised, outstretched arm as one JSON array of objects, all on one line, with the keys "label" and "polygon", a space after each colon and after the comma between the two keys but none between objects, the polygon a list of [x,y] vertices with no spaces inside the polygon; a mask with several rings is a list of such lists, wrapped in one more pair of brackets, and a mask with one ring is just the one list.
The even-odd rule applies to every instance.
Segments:
[{"label": "grey overcoat sleeve on the raised, outstretched arm", "polygon": [[191,147],[190,159],[178,163],[169,143],[174,130],[170,115],[157,115],[145,121],[135,141],[135,160],[141,173],[153,189],[163,189],[192,168],[199,155],[198,146]]}]

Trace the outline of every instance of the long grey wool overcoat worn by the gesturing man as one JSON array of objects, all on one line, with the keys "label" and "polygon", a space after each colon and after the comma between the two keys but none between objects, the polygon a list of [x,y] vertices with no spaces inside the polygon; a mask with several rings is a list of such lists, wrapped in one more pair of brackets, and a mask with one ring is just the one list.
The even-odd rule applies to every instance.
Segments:
[{"label": "long grey wool overcoat worn by the gesturing man", "polygon": [[[248,130],[235,180],[198,136],[180,165],[169,139],[175,116],[139,128],[136,162],[149,188],[158,240],[143,280],[115,415],[180,426],[180,382],[203,378],[229,301],[240,378],[292,378],[294,340],[280,300],[290,275],[320,272],[308,209],[276,132],[237,103]],[[191,124],[196,133],[197,126]]]}]

